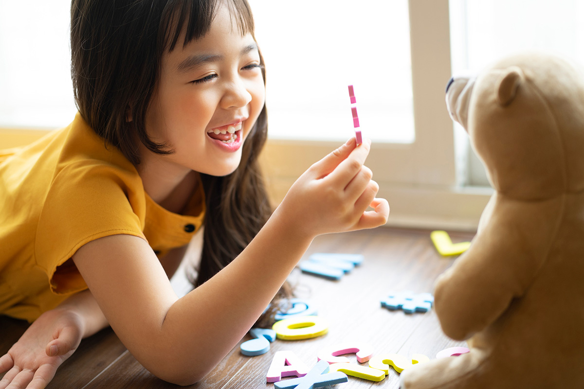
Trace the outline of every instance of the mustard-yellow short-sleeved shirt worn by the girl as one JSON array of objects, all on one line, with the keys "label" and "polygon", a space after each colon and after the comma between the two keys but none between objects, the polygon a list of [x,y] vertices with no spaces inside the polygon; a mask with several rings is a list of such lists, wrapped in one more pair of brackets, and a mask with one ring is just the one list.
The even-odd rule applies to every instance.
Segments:
[{"label": "mustard-yellow short-sleeved shirt worn by the girl", "polygon": [[130,234],[163,255],[189,243],[203,216],[202,184],[185,215],[166,211],[79,114],[32,145],[0,150],[0,314],[33,321],[86,289],[70,258],[89,241]]}]

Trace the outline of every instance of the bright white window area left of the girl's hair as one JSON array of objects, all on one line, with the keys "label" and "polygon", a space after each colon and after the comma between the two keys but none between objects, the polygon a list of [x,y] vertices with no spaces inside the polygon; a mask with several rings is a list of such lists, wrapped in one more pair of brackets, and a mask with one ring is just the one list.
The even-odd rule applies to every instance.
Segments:
[{"label": "bright white window area left of the girl's hair", "polygon": [[0,1],[0,126],[73,120],[70,7],[69,0]]}]

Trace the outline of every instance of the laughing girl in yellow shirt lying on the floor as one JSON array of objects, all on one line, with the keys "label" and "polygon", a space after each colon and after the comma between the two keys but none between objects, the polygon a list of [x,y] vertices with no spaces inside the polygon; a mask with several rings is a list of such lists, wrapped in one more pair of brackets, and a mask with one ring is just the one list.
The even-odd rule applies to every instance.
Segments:
[{"label": "laughing girl in yellow shirt lying on the floor", "polygon": [[[265,72],[245,0],[73,0],[71,51],[75,120],[0,154],[0,313],[38,318],[0,358],[0,389],[43,388],[108,324],[150,372],[193,384],[315,236],[387,221],[370,142],[354,139],[269,216]],[[203,223],[198,287],[179,299],[168,277]]]}]

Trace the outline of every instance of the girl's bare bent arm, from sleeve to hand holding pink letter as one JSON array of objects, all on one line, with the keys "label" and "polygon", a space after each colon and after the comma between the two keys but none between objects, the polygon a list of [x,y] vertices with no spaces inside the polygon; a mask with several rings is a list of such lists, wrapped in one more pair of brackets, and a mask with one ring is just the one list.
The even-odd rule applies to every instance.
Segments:
[{"label": "girl's bare bent arm, from sleeve to hand holding pink letter", "polygon": [[387,221],[387,201],[375,199],[378,186],[363,166],[369,148],[351,139],[311,166],[248,247],[181,299],[138,237],[103,237],[73,259],[135,358],[161,379],[193,384],[244,337],[315,236]]}]

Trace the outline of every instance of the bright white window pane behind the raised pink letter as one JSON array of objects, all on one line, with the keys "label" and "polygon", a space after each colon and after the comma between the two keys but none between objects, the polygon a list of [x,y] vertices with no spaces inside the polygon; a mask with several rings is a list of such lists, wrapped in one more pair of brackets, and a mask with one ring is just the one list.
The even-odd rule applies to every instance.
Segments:
[{"label": "bright white window pane behind the raised pink letter", "polygon": [[414,139],[408,1],[249,0],[266,61],[269,134],[345,141],[354,85],[363,135]]}]

